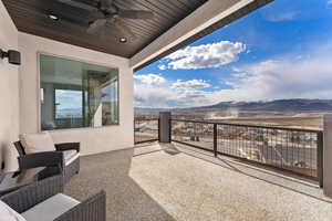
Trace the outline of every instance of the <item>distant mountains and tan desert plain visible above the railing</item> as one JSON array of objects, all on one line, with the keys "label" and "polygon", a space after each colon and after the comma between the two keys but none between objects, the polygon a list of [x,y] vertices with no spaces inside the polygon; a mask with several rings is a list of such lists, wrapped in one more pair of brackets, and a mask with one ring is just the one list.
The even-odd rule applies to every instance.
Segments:
[{"label": "distant mountains and tan desert plain visible above the railing", "polygon": [[172,112],[172,117],[175,119],[322,129],[323,116],[332,114],[332,101],[277,99],[221,102],[211,106],[190,108],[135,108],[135,117],[157,118],[159,112]]}]

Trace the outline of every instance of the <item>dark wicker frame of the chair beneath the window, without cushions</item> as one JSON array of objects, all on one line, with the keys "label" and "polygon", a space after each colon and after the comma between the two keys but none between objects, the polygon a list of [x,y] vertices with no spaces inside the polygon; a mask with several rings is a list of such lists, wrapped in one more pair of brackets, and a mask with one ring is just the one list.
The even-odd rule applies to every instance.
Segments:
[{"label": "dark wicker frame of the chair beneath the window, without cushions", "polygon": [[80,152],[80,143],[55,144],[56,151],[44,151],[35,154],[25,154],[21,141],[15,141],[14,146],[19,152],[20,170],[35,167],[48,167],[60,165],[63,171],[64,182],[69,182],[71,177],[80,171],[80,157],[74,160],[68,159],[69,150]]}]

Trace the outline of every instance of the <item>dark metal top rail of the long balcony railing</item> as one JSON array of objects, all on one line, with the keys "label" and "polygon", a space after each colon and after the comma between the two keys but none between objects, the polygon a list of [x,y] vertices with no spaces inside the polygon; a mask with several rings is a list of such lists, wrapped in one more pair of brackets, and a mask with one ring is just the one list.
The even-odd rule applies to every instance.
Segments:
[{"label": "dark metal top rail of the long balcony railing", "polygon": [[317,133],[317,134],[322,133],[321,129],[303,129],[303,128],[288,128],[288,127],[278,127],[278,126],[245,125],[245,124],[204,122],[204,120],[193,120],[193,119],[172,119],[172,120],[186,122],[186,123],[198,123],[198,124],[217,124],[217,125],[226,125],[226,126],[263,128],[263,129],[279,129],[279,130],[289,130],[289,131],[303,131],[303,133]]}]

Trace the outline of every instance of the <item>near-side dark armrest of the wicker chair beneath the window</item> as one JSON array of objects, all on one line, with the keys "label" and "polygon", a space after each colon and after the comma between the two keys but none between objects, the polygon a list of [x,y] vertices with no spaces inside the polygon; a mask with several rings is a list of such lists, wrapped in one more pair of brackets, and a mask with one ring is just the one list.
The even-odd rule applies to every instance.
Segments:
[{"label": "near-side dark armrest of the wicker chair beneath the window", "polygon": [[44,151],[28,154],[19,157],[20,170],[37,167],[64,167],[64,156],[61,151]]}]

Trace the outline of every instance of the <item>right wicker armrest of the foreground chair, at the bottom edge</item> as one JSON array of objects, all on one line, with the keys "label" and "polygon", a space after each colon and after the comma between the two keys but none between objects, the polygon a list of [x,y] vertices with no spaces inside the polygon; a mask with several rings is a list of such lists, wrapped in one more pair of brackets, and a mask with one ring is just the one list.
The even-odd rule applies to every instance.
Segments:
[{"label": "right wicker armrest of the foreground chair, at the bottom edge", "polygon": [[106,221],[106,192],[100,191],[54,221]]}]

